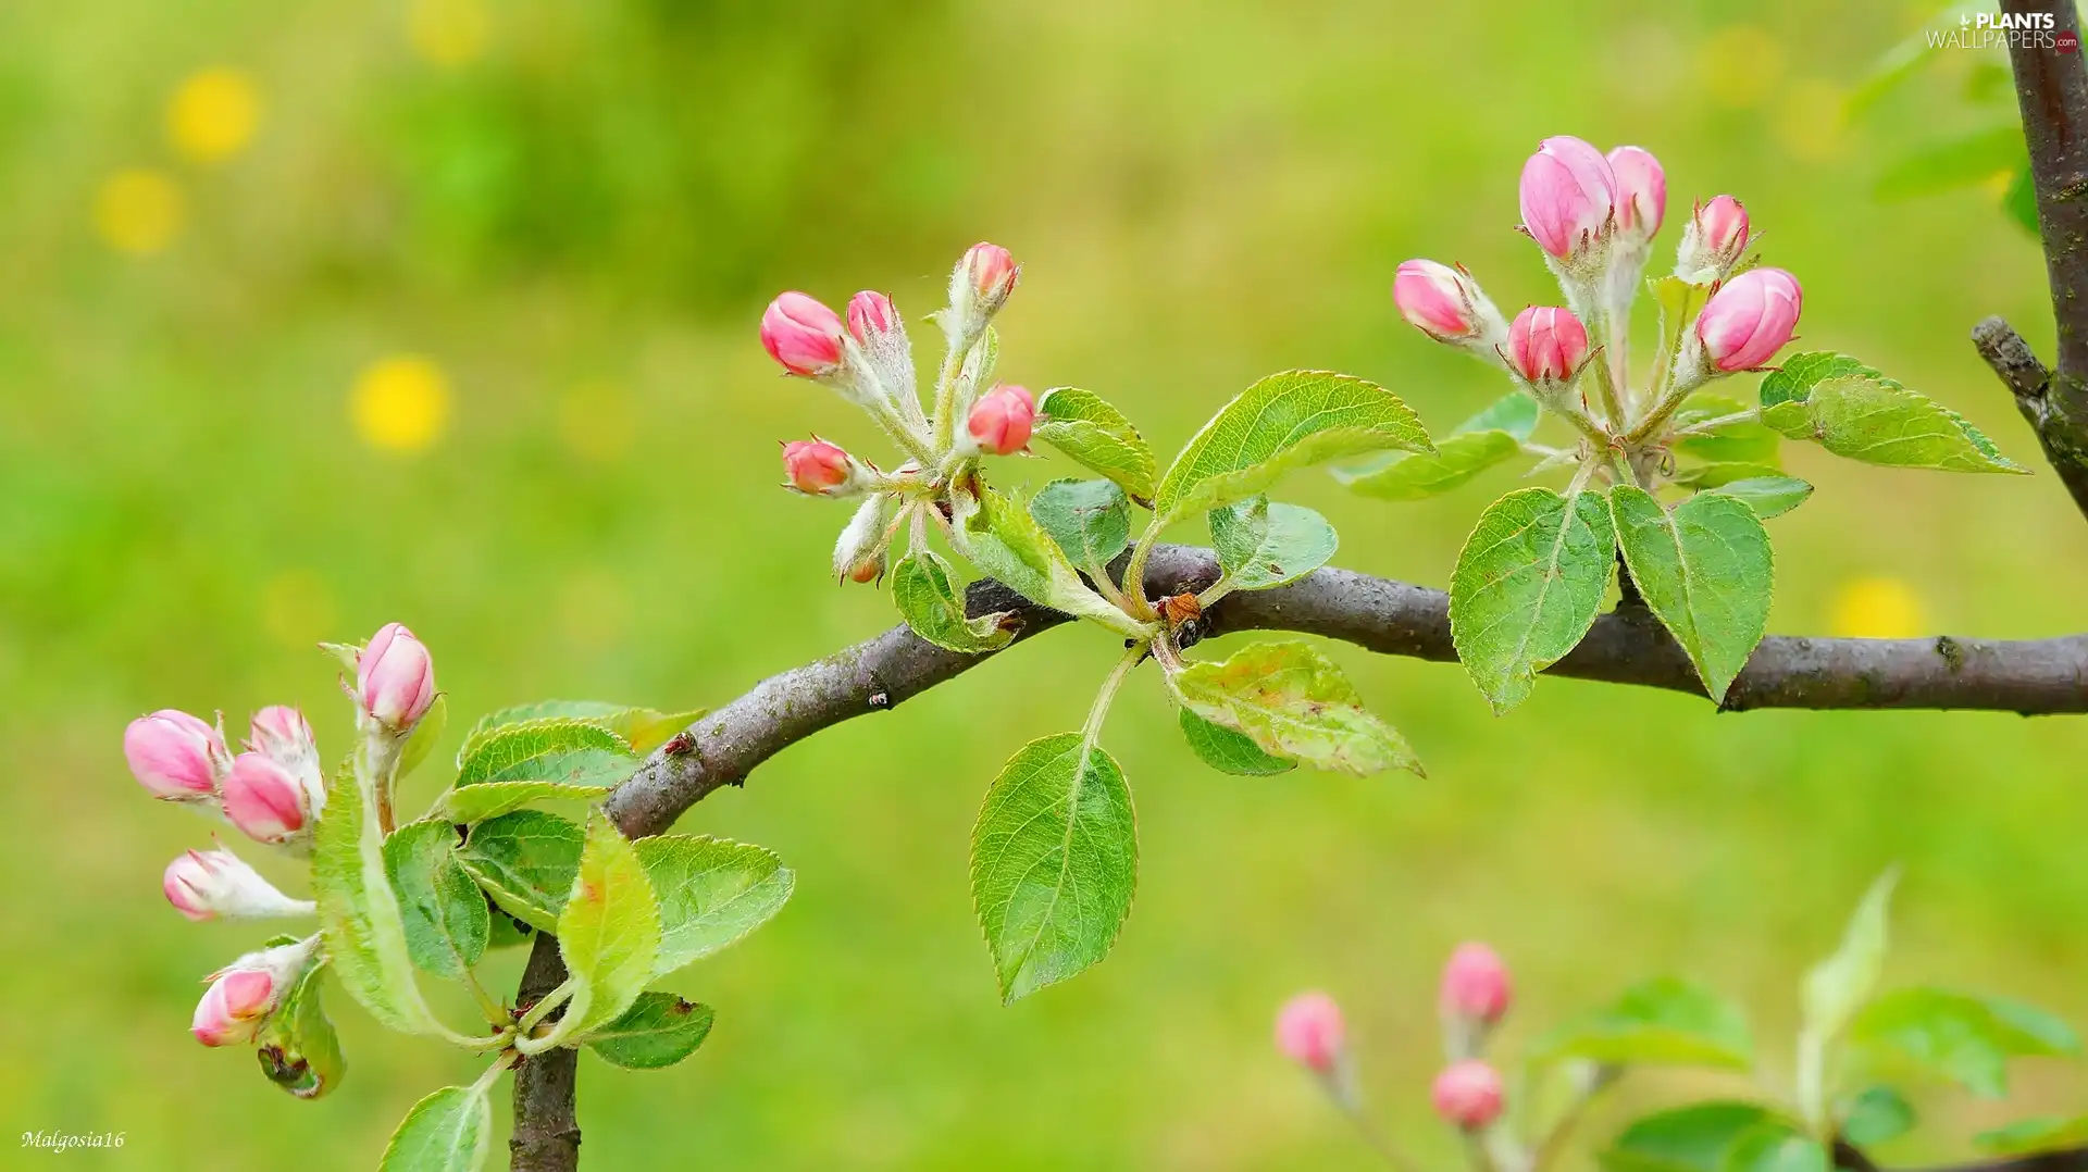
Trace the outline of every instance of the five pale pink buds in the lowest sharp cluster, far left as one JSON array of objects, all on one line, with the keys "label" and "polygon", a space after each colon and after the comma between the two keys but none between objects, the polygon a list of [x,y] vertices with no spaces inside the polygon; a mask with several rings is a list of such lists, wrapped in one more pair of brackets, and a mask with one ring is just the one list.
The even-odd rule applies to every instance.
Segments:
[{"label": "five pale pink buds in the lowest sharp cluster, far left", "polygon": [[[365,760],[397,763],[405,737],[434,704],[428,648],[388,623],[355,650],[355,679],[342,687],[357,706]],[[307,854],[326,811],[326,773],[311,723],[288,704],[253,714],[244,752],[226,748],[221,721],[177,710],[138,717],[123,729],[123,756],[155,798],[223,817],[255,842]],[[386,794],[388,798],[388,794]],[[167,863],[161,892],[188,919],[271,919],[313,915],[311,900],[286,896],[232,850],[188,850]],[[248,1042],[315,963],[319,938],[248,953],[211,974],[196,1005],[203,1045]]]}]

